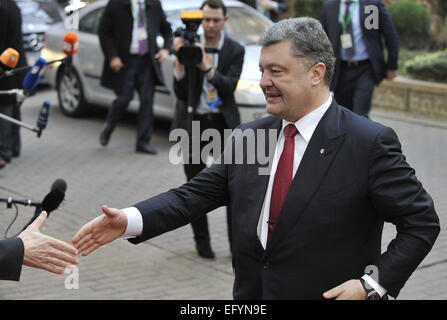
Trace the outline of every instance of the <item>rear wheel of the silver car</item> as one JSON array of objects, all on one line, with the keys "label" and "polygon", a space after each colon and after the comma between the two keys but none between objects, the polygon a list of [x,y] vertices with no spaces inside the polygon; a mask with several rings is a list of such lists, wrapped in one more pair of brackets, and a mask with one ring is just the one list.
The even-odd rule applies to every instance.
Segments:
[{"label": "rear wheel of the silver car", "polygon": [[69,72],[65,72],[64,68],[59,70],[57,97],[59,107],[66,116],[79,117],[87,113],[88,105],[84,98],[81,80],[73,68]]}]

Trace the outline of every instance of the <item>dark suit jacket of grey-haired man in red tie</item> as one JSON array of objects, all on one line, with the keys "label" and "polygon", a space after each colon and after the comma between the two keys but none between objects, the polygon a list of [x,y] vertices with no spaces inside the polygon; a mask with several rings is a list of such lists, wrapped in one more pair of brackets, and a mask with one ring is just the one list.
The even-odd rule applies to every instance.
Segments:
[{"label": "dark suit jacket of grey-haired man in red tie", "polygon": [[[281,119],[240,126],[250,128],[279,131]],[[335,101],[309,141],[266,250],[257,225],[269,176],[259,175],[259,167],[214,164],[183,186],[136,204],[144,226],[131,242],[230,205],[234,298],[321,299],[326,290],[361,277],[367,265],[378,267],[379,283],[396,297],[439,233],[433,201],[394,131]],[[397,236],[381,254],[384,221],[396,226]]]}]

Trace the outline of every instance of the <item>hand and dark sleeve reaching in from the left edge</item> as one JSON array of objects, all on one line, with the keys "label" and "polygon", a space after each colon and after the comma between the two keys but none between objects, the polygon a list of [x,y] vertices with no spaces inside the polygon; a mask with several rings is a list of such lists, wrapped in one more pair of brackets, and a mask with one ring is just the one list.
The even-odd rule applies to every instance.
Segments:
[{"label": "hand and dark sleeve reaching in from the left edge", "polygon": [[0,240],[0,280],[19,281],[22,265],[62,274],[79,263],[75,248],[40,232],[46,218],[42,212],[18,237]]}]

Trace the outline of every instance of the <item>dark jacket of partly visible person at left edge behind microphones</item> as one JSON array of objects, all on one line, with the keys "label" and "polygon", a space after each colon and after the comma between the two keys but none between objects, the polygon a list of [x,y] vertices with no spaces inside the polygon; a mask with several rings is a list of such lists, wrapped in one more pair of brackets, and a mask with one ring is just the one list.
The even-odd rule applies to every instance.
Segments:
[{"label": "dark jacket of partly visible person at left edge behind microphones", "polygon": [[[16,3],[12,0],[0,0],[0,54],[8,48],[19,53],[16,68],[27,65],[22,39],[22,17]],[[1,67],[0,67],[1,70]],[[0,90],[22,88],[26,73],[0,80]],[[0,103],[13,103],[15,96],[0,95]]]}]

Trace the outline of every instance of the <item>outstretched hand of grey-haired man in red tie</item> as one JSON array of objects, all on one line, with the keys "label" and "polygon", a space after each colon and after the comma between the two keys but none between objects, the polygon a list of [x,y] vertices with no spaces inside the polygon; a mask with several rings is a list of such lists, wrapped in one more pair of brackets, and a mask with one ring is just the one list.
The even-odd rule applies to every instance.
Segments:
[{"label": "outstretched hand of grey-haired man in red tie", "polygon": [[83,256],[119,238],[126,231],[127,217],[122,210],[105,205],[101,209],[104,214],[85,224],[71,240]]}]

